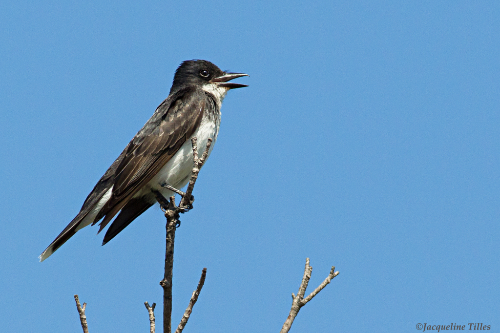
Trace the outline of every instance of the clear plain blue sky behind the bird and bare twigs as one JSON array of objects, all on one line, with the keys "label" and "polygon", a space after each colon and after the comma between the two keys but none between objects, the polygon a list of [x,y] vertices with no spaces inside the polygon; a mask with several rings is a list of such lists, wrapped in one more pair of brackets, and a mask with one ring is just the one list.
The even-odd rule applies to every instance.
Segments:
[{"label": "clear plain blue sky behind the bird and bare twigs", "polygon": [[[164,217],[86,227],[37,256],[202,58],[245,72],[181,216],[173,322],[186,332],[500,329],[497,1],[11,1],[0,4],[0,330],[147,331]],[[161,306],[156,308],[161,318]]]}]

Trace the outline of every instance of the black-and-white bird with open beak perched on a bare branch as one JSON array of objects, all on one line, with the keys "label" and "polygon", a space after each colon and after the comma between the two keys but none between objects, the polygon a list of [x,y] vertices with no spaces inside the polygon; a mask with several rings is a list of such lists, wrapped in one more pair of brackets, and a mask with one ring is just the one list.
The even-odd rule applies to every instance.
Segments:
[{"label": "black-and-white bird with open beak perched on a bare branch", "polygon": [[[135,134],[88,194],[78,214],[40,254],[49,257],[76,231],[99,220],[99,233],[107,229],[102,245],[156,203],[153,191],[164,197],[166,187],[187,184],[193,165],[191,137],[201,154],[210,138],[217,139],[220,106],[229,89],[248,86],[229,82],[248,76],[222,71],[207,60],[186,60],[175,70],[168,96]],[[213,144],[208,150],[211,152]]]}]

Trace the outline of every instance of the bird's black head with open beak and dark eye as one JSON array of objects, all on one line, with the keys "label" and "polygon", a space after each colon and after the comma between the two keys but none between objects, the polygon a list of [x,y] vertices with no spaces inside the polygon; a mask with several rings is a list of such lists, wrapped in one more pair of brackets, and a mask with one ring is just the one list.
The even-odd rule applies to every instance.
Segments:
[{"label": "bird's black head with open beak and dark eye", "polygon": [[170,93],[188,85],[203,86],[217,84],[227,89],[247,86],[245,84],[227,82],[233,78],[248,76],[243,73],[228,73],[206,60],[186,60],[175,70]]}]

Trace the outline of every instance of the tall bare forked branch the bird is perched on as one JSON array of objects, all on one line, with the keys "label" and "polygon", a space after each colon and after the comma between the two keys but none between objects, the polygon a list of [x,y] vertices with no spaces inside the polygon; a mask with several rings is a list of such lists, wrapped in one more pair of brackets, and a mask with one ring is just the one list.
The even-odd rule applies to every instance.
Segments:
[{"label": "tall bare forked branch the bird is perched on", "polygon": [[[175,228],[180,225],[179,213],[183,213],[192,208],[194,197],[192,190],[194,183],[198,178],[199,169],[208,156],[208,151],[212,140],[209,138],[206,142],[206,147],[201,157],[198,158],[198,147],[196,137],[191,138],[193,152],[193,167],[191,178],[187,185],[186,192],[182,195],[179,205],[175,204],[175,195],[167,200],[159,191],[153,190],[156,200],[159,202],[161,209],[165,212],[166,217],[166,241],[165,241],[165,268],[163,279],[159,284],[163,287],[163,333],[171,332],[171,316],[172,316],[172,269],[173,269],[173,246],[175,241]],[[187,321],[187,320],[186,320]]]}]

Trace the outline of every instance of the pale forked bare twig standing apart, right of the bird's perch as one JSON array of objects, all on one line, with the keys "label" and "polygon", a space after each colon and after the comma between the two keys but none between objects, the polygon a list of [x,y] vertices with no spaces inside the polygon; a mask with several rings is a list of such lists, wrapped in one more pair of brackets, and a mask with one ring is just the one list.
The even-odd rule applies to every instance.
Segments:
[{"label": "pale forked bare twig standing apart, right of the bird's perch", "polygon": [[302,277],[302,283],[300,283],[300,287],[298,288],[297,295],[292,292],[291,298],[293,299],[291,302],[291,309],[286,321],[283,324],[279,333],[287,333],[290,330],[291,324],[293,320],[298,314],[298,311],[302,306],[304,306],[309,300],[312,299],[319,291],[321,291],[326,284],[330,283],[331,279],[338,275],[338,271],[335,271],[335,266],[331,266],[330,273],[324,279],[319,286],[314,289],[309,295],[304,298],[305,289],[307,288],[307,284],[309,283],[309,279],[311,278],[312,267],[309,265],[309,258],[305,258],[305,267],[304,267],[304,275]]}]

